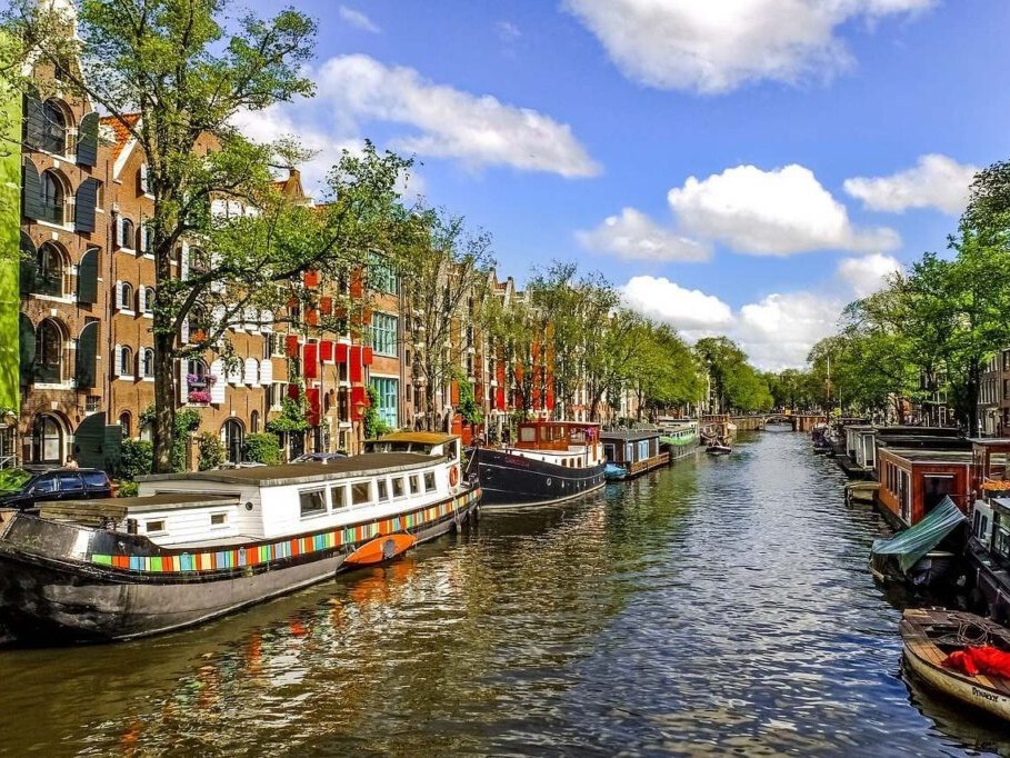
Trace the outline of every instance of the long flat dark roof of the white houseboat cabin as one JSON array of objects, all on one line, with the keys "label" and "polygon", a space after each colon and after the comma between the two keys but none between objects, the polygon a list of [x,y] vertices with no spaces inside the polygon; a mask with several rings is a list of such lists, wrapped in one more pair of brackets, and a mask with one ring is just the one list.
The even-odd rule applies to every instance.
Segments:
[{"label": "long flat dark roof of the white houseboat cabin", "polygon": [[214,471],[190,471],[183,473],[151,473],[137,477],[137,481],[218,481],[236,485],[274,487],[278,485],[301,485],[328,479],[348,479],[354,476],[370,476],[380,472],[404,471],[431,466],[441,460],[417,452],[364,452],[350,458],[337,458],[329,462],[282,463],[280,466],[257,466],[243,469],[219,469]]}]

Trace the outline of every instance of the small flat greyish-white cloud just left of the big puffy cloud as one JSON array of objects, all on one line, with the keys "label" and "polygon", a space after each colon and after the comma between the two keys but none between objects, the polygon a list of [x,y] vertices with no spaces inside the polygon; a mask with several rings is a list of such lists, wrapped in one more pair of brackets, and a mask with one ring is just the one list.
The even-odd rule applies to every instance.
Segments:
[{"label": "small flat greyish-white cloud just left of the big puffy cloud", "polygon": [[711,257],[706,246],[666,229],[634,208],[608,217],[591,231],[577,231],[576,238],[587,250],[624,260],[701,261]]}]

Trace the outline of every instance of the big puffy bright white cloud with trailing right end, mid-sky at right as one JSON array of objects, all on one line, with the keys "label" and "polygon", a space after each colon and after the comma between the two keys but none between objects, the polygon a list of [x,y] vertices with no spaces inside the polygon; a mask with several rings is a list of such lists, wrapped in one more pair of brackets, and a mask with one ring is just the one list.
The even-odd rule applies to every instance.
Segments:
[{"label": "big puffy bright white cloud with trailing right end, mid-sky at right", "polygon": [[683,231],[743,253],[879,252],[901,243],[892,229],[854,227],[846,207],[797,164],[771,171],[738,166],[703,180],[689,177],[668,199]]}]

